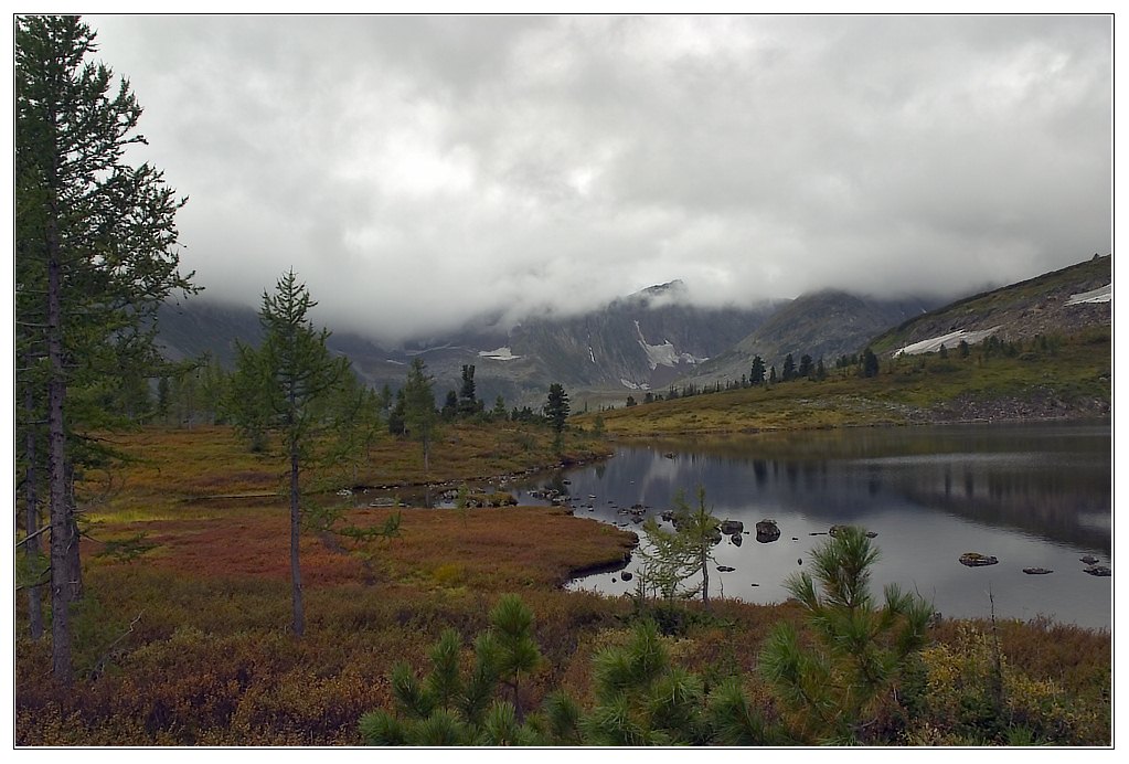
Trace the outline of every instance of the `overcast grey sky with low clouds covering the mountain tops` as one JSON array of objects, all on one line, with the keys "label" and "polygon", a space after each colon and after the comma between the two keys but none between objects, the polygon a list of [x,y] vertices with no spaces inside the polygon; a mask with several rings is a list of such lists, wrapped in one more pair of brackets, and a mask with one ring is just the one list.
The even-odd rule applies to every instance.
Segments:
[{"label": "overcast grey sky with low clouds covering the mountain tops", "polygon": [[390,340],[680,278],[957,295],[1111,251],[1109,17],[91,16],[190,201]]}]

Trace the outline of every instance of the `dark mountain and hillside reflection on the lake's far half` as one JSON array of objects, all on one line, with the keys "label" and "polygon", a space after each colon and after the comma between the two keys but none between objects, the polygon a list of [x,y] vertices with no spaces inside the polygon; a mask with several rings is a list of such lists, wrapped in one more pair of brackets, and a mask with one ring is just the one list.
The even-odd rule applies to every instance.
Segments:
[{"label": "dark mountain and hillside reflection on the lake's far half", "polygon": [[[769,454],[773,455],[769,455]],[[1110,554],[1108,425],[956,426],[774,434],[628,449],[598,476],[619,502],[669,505],[704,486],[714,513],[851,522],[937,511]],[[630,498],[629,498],[630,497]]]}]

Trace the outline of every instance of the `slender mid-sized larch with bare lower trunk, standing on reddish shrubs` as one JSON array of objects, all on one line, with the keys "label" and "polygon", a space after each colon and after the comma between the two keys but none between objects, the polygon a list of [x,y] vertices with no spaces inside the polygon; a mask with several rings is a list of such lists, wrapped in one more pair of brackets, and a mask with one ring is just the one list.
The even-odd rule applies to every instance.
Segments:
[{"label": "slender mid-sized larch with bare lower trunk, standing on reddish shrubs", "polygon": [[237,416],[250,417],[255,434],[262,429],[277,433],[289,466],[290,589],[292,628],[297,636],[303,635],[306,625],[299,555],[303,520],[299,478],[320,429],[331,420],[327,403],[349,373],[348,358],[333,357],[325,346],[329,330],[314,329],[308,314],[315,305],[306,285],[298,283],[292,270],[283,275],[273,295],[263,293],[259,311],[262,346],[253,349],[239,345],[233,375],[238,381],[237,389],[251,397]]}]

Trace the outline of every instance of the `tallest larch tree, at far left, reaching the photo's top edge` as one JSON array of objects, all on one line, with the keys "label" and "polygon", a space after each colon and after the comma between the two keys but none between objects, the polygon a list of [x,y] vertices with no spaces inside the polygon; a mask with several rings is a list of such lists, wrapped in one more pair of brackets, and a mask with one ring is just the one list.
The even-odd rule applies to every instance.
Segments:
[{"label": "tallest larch tree, at far left, reaching the photo's top edge", "polygon": [[155,367],[157,307],[194,290],[178,271],[185,200],[160,171],[128,162],[126,149],[146,142],[141,107],[126,81],[114,88],[111,70],[88,61],[94,41],[75,16],[16,19],[16,365],[28,425],[17,440],[45,441],[24,449],[35,493],[25,494],[25,530],[38,531],[35,486],[45,487],[52,672],[63,684],[81,570],[73,476],[91,453],[82,435],[117,424],[82,393],[114,384],[122,368]]}]

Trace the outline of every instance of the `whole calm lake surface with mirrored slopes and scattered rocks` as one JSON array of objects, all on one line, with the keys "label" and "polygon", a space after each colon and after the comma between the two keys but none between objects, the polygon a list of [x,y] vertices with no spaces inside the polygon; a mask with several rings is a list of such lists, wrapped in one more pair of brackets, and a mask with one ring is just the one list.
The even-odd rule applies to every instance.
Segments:
[{"label": "whole calm lake surface with mirrored slopes and scattered rocks", "polygon": [[[785,600],[784,580],[831,526],[849,523],[877,533],[876,593],[896,582],[946,616],[988,617],[994,600],[997,617],[1109,628],[1112,579],[1084,573],[1079,557],[1112,567],[1111,451],[1108,424],[859,428],[623,448],[539,487],[567,492],[579,516],[638,530],[621,510],[658,515],[679,489],[693,502],[704,486],[711,512],[746,531],[739,546],[714,548],[715,566],[735,570],[710,572],[712,594]],[[779,540],[756,541],[762,519],[777,521]],[[999,564],[965,567],[965,552]],[[638,561],[625,570],[638,572]],[[614,572],[572,588],[615,594],[634,582]]]}]

